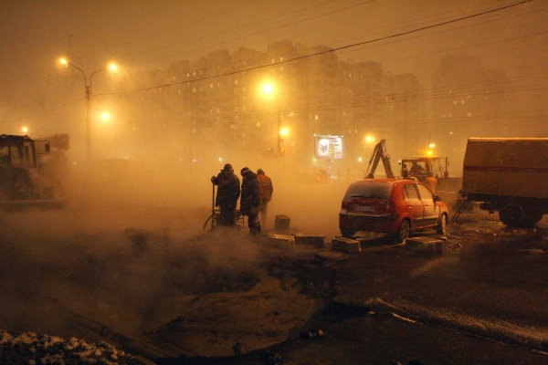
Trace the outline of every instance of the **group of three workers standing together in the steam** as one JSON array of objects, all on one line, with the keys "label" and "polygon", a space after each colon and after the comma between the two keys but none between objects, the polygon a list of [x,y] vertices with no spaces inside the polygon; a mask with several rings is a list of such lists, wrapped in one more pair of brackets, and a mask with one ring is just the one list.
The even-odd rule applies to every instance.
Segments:
[{"label": "group of three workers standing together in the steam", "polygon": [[240,174],[242,183],[234,173],[230,163],[225,164],[223,170],[211,177],[211,183],[217,186],[215,206],[220,208],[217,224],[236,226],[237,200],[240,198],[240,214],[248,216],[248,227],[252,234],[261,232],[260,212],[263,222],[267,219],[267,207],[274,187],[272,180],[262,169],[257,173],[244,167]]}]

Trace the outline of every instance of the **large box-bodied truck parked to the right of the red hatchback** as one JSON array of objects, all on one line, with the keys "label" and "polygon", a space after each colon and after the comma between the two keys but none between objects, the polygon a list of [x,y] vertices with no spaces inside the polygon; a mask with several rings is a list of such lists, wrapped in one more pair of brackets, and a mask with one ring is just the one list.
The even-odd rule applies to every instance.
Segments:
[{"label": "large box-bodied truck parked to the right of the red hatchback", "polygon": [[527,227],[548,213],[548,138],[471,138],[461,193],[503,224]]}]

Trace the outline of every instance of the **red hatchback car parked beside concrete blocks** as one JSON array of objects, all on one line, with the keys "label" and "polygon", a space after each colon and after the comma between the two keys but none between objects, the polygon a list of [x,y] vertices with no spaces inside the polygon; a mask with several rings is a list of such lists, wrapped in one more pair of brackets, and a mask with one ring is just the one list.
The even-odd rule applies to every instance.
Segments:
[{"label": "red hatchback car parked beside concrete blocks", "polygon": [[342,199],[339,228],[395,235],[398,243],[416,231],[436,228],[444,235],[448,206],[425,184],[406,179],[365,179],[350,185]]}]

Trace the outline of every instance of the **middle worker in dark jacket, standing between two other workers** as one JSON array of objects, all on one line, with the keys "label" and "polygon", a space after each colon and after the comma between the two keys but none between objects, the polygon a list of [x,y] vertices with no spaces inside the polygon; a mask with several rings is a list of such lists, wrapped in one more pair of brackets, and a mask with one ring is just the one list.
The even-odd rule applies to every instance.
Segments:
[{"label": "middle worker in dark jacket, standing between two other workers", "polygon": [[261,208],[261,191],[255,172],[244,167],[241,172],[242,180],[242,199],[240,200],[240,212],[248,215],[249,232],[252,234],[260,233],[260,222],[258,212]]}]

